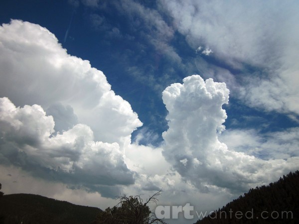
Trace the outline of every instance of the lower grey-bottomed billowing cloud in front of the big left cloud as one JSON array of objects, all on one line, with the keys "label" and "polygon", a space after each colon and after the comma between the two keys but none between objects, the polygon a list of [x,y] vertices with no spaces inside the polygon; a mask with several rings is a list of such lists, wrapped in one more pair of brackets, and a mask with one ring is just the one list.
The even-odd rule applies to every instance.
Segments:
[{"label": "lower grey-bottomed billowing cloud in front of the big left cloud", "polygon": [[38,105],[16,108],[7,98],[0,98],[0,124],[1,163],[102,193],[105,186],[134,183],[118,143],[94,141],[85,124],[51,136],[52,116]]}]

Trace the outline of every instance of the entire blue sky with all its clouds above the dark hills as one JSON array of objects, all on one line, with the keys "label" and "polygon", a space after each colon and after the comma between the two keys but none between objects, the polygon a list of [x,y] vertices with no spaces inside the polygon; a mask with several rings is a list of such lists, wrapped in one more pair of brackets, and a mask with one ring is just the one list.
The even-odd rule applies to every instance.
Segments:
[{"label": "entire blue sky with all its clouds above the dark hills", "polygon": [[105,209],[162,189],[158,205],[210,212],[296,171],[298,10],[2,0],[2,191]]}]

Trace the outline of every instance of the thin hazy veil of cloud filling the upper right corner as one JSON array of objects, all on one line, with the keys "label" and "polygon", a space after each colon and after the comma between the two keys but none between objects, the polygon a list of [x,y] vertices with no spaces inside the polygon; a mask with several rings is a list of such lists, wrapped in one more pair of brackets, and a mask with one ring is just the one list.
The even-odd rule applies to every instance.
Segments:
[{"label": "thin hazy veil of cloud filling the upper right corner", "polygon": [[[215,58],[244,73],[239,77],[244,87],[234,97],[250,107],[298,116],[297,1],[159,3],[193,49],[199,43],[210,46]],[[248,72],[248,65],[255,72]]]}]

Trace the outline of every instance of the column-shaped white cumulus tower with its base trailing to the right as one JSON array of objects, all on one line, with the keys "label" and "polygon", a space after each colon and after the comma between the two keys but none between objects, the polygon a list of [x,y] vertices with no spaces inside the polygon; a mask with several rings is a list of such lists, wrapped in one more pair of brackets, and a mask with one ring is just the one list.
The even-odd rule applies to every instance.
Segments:
[{"label": "column-shaped white cumulus tower with its base trailing to the right", "polygon": [[[168,110],[168,130],[163,133],[163,155],[186,181],[201,191],[227,188],[246,191],[257,183],[269,181],[267,173],[279,174],[296,168],[298,157],[264,161],[228,149],[218,140],[227,117],[229,90],[224,83],[204,81],[193,75],[175,83],[163,92]],[[277,173],[277,174],[278,174]]]}]

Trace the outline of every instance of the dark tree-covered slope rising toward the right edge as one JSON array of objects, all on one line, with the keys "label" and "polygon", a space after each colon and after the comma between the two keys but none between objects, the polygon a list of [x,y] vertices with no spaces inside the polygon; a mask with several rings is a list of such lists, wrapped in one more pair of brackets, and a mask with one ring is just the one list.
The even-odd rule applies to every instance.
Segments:
[{"label": "dark tree-covered slope rising toward the right edge", "polygon": [[[293,218],[292,218],[293,216]],[[250,189],[196,224],[298,224],[299,171]]]}]

